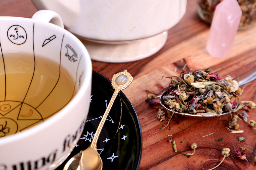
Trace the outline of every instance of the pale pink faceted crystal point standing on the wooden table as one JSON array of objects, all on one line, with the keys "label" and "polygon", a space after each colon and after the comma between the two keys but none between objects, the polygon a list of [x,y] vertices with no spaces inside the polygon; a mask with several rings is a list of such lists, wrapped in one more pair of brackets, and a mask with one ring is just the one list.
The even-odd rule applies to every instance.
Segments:
[{"label": "pale pink faceted crystal point standing on the wooden table", "polygon": [[230,54],[242,17],[237,0],[224,0],[215,9],[206,49],[213,57]]}]

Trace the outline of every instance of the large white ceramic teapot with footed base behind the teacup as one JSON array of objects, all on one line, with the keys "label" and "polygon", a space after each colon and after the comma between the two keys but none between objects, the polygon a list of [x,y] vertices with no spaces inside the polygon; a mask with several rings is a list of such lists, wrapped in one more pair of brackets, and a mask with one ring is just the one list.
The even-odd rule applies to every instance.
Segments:
[{"label": "large white ceramic teapot with footed base behind the teacup", "polygon": [[134,61],[156,53],[187,6],[187,0],[31,1],[38,10],[57,12],[67,30],[89,40],[83,43],[91,58],[105,62]]}]

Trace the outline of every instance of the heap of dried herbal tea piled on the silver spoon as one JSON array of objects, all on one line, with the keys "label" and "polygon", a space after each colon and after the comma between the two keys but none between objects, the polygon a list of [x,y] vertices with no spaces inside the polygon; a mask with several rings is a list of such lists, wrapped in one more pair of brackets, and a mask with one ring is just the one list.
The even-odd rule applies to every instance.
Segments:
[{"label": "heap of dried herbal tea piled on the silver spoon", "polygon": [[[174,78],[174,77],[171,77]],[[221,80],[210,69],[180,74],[171,79],[163,96],[164,105],[179,113],[198,115],[220,115],[232,112],[240,101],[242,89],[231,76]]]}]

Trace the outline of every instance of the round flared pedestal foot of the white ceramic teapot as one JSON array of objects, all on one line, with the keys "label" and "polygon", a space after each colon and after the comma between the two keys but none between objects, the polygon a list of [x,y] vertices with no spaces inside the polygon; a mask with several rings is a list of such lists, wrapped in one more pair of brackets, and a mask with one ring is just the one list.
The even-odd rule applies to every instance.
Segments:
[{"label": "round flared pedestal foot of the white ceramic teapot", "polygon": [[80,40],[86,46],[92,60],[121,63],[141,60],[155,54],[164,46],[167,36],[168,31],[165,31],[152,37],[119,44],[118,42],[108,44],[108,42]]}]

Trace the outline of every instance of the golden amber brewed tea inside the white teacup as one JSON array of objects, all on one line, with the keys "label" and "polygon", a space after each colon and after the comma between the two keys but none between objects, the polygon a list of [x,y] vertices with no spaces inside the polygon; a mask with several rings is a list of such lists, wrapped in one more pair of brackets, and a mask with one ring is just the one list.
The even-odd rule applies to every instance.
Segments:
[{"label": "golden amber brewed tea inside the white teacup", "polygon": [[0,60],[0,138],[33,127],[76,94],[61,62],[33,53],[5,53]]}]

